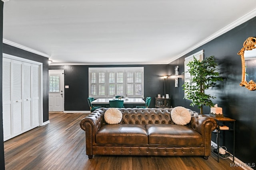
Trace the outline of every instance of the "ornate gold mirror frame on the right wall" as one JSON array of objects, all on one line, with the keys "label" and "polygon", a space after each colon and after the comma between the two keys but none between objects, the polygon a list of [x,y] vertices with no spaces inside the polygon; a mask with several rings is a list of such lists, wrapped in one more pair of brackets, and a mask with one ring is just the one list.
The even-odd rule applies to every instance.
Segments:
[{"label": "ornate gold mirror frame on the right wall", "polygon": [[249,90],[256,90],[256,84],[253,80],[250,80],[247,82],[245,80],[245,59],[244,59],[244,51],[255,49],[256,45],[256,38],[255,37],[249,37],[244,41],[244,47],[237,53],[241,56],[242,61],[242,81],[240,83],[240,86],[245,86],[245,88]]}]

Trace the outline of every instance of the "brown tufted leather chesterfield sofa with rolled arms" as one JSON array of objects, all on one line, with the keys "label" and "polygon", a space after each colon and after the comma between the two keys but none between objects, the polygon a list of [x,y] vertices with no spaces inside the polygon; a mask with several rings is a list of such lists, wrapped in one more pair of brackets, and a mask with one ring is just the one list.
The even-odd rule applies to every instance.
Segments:
[{"label": "brown tufted leather chesterfield sofa with rolled arms", "polygon": [[86,154],[203,156],[211,152],[212,117],[191,113],[187,125],[176,125],[172,108],[120,108],[122,120],[109,125],[104,121],[107,108],[96,109],[80,122],[86,132]]}]

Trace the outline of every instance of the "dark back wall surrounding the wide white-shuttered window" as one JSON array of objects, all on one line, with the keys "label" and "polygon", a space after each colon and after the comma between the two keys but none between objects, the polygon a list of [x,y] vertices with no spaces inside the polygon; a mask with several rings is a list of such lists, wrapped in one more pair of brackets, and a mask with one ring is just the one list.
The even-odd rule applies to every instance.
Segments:
[{"label": "dark back wall surrounding the wide white-shuttered window", "polygon": [[[50,70],[64,70],[65,89],[64,110],[65,111],[88,111],[87,102],[88,68],[89,67],[144,67],[144,97],[152,97],[150,107],[155,107],[154,98],[157,94],[164,94],[164,80],[160,76],[167,74],[167,64],[159,65],[78,65],[78,66],[49,66]],[[167,83],[166,83],[167,84]],[[167,85],[166,85],[167,86]]]}]

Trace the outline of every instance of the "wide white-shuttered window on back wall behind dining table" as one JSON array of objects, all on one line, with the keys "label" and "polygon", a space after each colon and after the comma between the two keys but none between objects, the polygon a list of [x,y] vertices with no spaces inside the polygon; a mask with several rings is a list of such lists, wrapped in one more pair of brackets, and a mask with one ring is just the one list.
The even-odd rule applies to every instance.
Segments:
[{"label": "wide white-shuttered window on back wall behind dining table", "polygon": [[143,67],[89,68],[89,96],[143,97]]}]

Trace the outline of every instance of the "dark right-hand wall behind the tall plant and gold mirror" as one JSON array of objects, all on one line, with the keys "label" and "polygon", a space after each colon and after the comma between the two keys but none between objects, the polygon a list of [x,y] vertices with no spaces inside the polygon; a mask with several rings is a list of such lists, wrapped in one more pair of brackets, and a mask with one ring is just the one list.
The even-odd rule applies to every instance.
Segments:
[{"label": "dark right-hand wall behind the tall plant and gold mirror", "polygon": [[[236,119],[236,140],[235,156],[244,163],[256,163],[256,91],[249,91],[239,86],[241,82],[242,68],[241,58],[237,55],[248,37],[256,37],[256,18],[228,31],[227,33],[213,39],[201,47],[191,51],[183,57],[169,64],[168,72],[174,74],[174,66],[180,66],[180,73],[184,72],[184,59],[200,50],[204,50],[204,57],[214,55],[220,69],[223,82],[216,87],[207,90],[217,98],[214,103],[223,108],[225,116]],[[254,74],[255,75],[255,74]],[[256,76],[253,77],[256,80]],[[180,87],[174,88],[174,79],[169,79],[168,86],[172,96],[173,106],[184,106],[199,111],[197,106],[189,106],[190,102],[184,100],[184,91],[181,85],[184,84],[184,74],[180,75]],[[204,113],[208,114],[210,107],[204,107]],[[223,133],[222,133],[223,134]],[[225,132],[224,145],[230,152],[233,152],[232,132]],[[223,136],[221,136],[223,137]],[[216,136],[212,136],[216,142]]]}]

